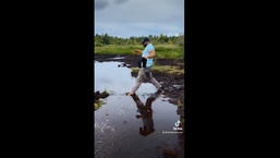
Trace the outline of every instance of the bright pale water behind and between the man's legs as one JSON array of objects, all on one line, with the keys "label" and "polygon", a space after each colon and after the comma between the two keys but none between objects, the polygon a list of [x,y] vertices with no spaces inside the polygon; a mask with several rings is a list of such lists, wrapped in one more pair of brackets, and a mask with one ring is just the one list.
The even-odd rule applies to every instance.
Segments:
[{"label": "bright pale water behind and between the man's legs", "polygon": [[[95,62],[95,92],[105,89],[118,94],[127,93],[135,84],[135,77],[131,75],[132,70],[118,66],[121,62]],[[142,84],[137,93],[155,92],[151,84]]]}]

